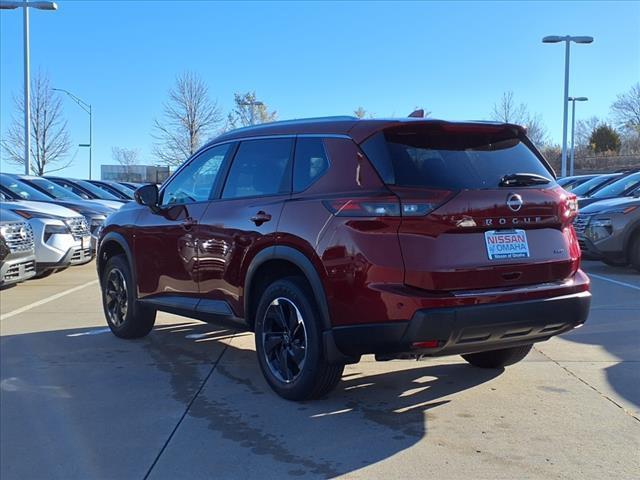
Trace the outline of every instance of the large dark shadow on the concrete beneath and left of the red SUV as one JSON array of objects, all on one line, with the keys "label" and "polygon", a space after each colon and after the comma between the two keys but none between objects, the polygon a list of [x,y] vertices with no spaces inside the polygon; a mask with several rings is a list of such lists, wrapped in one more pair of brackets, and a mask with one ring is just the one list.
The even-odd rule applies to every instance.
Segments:
[{"label": "large dark shadow on the concrete beneath and left of the red SUV", "polygon": [[438,406],[501,373],[364,362],[295,403],[270,390],[252,345],[200,323],[134,341],[104,327],[1,337],[2,478],[142,478],[156,460],[151,478],[333,477],[415,445]]}]

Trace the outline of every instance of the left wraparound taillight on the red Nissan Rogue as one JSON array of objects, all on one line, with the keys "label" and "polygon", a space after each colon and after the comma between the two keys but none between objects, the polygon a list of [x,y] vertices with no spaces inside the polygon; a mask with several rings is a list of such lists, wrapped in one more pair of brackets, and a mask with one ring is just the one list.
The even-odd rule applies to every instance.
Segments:
[{"label": "left wraparound taillight on the red Nissan Rogue", "polygon": [[441,198],[433,200],[399,200],[395,197],[341,198],[325,200],[322,203],[337,217],[420,217],[427,215],[440,205]]}]

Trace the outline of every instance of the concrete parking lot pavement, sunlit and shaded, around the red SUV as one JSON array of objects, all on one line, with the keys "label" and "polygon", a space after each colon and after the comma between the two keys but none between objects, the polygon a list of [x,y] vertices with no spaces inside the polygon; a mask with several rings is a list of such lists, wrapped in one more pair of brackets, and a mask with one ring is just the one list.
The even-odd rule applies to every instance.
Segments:
[{"label": "concrete parking lot pavement, sunlit and shaded, around the red SUV", "polygon": [[586,325],[502,372],[460,357],[348,366],[292,403],[253,336],[103,319],[92,264],[0,292],[0,478],[640,478],[640,275],[585,262]]}]

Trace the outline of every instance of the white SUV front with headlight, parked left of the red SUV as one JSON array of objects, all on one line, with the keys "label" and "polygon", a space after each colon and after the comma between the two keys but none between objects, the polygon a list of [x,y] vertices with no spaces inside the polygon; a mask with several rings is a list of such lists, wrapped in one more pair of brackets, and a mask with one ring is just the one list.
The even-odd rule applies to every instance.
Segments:
[{"label": "white SUV front with headlight, parked left of the red SUV", "polygon": [[19,215],[31,225],[38,277],[93,259],[95,247],[89,226],[77,212],[51,203],[10,199],[0,201],[0,209]]}]

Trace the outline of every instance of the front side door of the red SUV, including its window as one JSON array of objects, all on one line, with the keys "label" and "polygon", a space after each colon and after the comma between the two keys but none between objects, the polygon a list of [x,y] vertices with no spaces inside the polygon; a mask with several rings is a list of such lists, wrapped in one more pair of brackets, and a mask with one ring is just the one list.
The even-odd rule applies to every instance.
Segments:
[{"label": "front side door of the red SUV, including its window", "polygon": [[160,211],[144,209],[134,239],[138,296],[198,296],[197,228],[232,144],[191,159],[160,192]]}]

